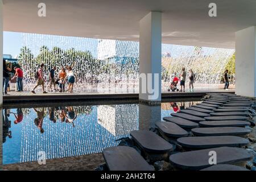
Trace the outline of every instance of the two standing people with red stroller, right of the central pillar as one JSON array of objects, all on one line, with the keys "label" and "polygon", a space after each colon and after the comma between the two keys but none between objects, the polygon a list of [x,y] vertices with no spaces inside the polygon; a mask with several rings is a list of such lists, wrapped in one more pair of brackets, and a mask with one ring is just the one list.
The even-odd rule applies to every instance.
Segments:
[{"label": "two standing people with red stroller, right of the central pillar", "polygon": [[[172,79],[171,85],[170,85],[170,90],[172,91],[179,91],[179,92],[185,92],[185,80],[187,77],[187,73],[185,72],[185,68],[181,69],[181,73],[179,74],[179,76],[174,76],[174,78]],[[189,69],[189,92],[194,92],[194,86],[193,86],[193,82],[195,81],[195,74],[193,73],[192,69]],[[177,83],[180,81],[180,90],[177,89]],[[168,89],[169,90],[169,89]]]}]

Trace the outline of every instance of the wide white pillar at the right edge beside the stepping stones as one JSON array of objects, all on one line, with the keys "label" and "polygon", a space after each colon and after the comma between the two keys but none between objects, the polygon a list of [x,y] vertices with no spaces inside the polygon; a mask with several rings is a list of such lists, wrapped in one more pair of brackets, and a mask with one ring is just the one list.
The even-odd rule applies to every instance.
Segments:
[{"label": "wide white pillar at the right edge beside the stepping stones", "polygon": [[236,32],[236,94],[256,97],[256,26]]}]

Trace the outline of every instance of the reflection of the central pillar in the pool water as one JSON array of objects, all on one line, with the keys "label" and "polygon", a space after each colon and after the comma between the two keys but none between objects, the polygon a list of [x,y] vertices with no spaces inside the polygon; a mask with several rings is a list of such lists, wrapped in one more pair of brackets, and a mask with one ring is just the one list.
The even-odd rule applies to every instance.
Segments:
[{"label": "reflection of the central pillar in the pool water", "polygon": [[155,122],[161,121],[161,105],[139,104],[139,130],[155,127]]}]

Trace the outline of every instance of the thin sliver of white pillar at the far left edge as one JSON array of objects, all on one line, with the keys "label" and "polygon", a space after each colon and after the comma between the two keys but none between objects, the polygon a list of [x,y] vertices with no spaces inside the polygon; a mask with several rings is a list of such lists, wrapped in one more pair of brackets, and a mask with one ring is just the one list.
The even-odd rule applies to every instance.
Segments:
[{"label": "thin sliver of white pillar at the far left edge", "polygon": [[0,0],[0,107],[3,105],[3,2]]}]

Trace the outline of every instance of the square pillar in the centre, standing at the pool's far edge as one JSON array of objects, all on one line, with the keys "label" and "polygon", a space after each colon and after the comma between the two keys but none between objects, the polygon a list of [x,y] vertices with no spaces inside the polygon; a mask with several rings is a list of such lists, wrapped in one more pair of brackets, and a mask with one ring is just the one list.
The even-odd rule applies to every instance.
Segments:
[{"label": "square pillar in the centre, standing at the pool's far edge", "polygon": [[139,22],[139,100],[161,101],[162,13],[151,11]]}]

